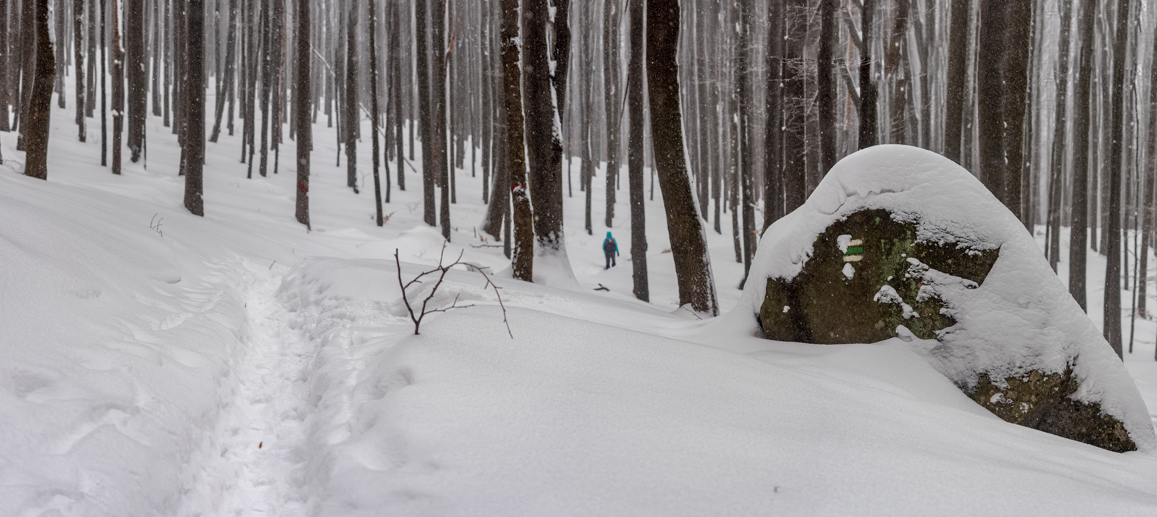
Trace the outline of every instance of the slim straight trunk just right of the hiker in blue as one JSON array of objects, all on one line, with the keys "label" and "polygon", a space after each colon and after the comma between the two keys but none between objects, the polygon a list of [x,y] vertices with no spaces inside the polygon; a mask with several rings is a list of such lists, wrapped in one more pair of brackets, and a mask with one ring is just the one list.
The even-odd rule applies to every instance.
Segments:
[{"label": "slim straight trunk just right of the hiker in blue", "polygon": [[643,2],[628,6],[631,59],[627,62],[627,109],[631,130],[627,142],[627,183],[631,190],[631,265],[635,297],[650,301],[647,279],[647,223],[643,211]]}]

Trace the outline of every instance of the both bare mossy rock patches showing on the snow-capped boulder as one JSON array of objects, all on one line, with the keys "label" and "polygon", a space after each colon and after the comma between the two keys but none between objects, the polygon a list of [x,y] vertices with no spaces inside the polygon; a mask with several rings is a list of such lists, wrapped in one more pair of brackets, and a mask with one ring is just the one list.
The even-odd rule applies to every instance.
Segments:
[{"label": "both bare mossy rock patches showing on the snow-capped boulder", "polygon": [[[1000,250],[918,242],[915,223],[883,209],[857,212],[816,238],[794,279],[767,279],[759,323],[767,339],[818,345],[882,341],[897,337],[899,325],[919,338],[939,339],[939,331],[956,324],[946,313],[956,308],[941,298],[930,278],[943,282],[945,276],[929,271],[978,288],[998,256]],[[981,372],[974,386],[960,389],[1008,422],[1111,451],[1136,450],[1120,420],[1099,404],[1069,397],[1077,384],[1070,367],[1001,379]]]}]

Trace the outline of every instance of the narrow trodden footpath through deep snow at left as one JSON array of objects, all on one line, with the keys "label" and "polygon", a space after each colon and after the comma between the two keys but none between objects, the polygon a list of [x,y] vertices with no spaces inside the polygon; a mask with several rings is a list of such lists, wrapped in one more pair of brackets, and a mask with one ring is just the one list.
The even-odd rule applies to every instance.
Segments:
[{"label": "narrow trodden footpath through deep snow at left", "polygon": [[278,287],[287,268],[238,265],[246,313],[220,415],[186,465],[179,515],[305,515],[304,463],[312,344],[287,326]]}]

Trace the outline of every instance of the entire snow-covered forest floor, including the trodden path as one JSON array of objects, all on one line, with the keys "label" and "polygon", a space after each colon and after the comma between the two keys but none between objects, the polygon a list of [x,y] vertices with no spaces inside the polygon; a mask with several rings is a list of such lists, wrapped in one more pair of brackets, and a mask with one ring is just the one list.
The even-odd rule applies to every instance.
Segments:
[{"label": "entire snow-covered forest floor, including the trodden path", "polygon": [[[477,306],[413,335],[393,251],[412,278],[442,238],[408,168],[374,224],[368,140],[354,194],[315,126],[307,232],[292,142],[252,179],[238,136],[209,143],[197,217],[159,118],[148,168],[123,176],[100,167],[88,123],[80,143],[53,112],[47,182],[12,170],[23,153],[0,133],[0,515],[1157,512],[1154,453],[1000,421],[899,340],[780,344],[678,310],[658,192],[650,304],[631,295],[626,191],[622,257],[603,271],[603,178],[588,236],[575,172],[581,290],[499,271],[510,339],[478,273],[454,271],[434,302]],[[481,178],[467,168],[457,186],[448,253],[508,267],[474,248],[494,244],[476,232]],[[708,232],[724,310],[743,273],[729,215]],[[1104,259],[1089,271],[1099,322]],[[1155,334],[1138,320],[1126,355],[1150,407]]]}]

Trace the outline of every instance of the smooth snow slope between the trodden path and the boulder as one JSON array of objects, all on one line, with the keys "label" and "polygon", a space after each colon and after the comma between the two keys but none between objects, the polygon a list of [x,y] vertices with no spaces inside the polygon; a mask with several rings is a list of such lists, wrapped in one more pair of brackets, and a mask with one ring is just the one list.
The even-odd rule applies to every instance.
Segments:
[{"label": "smooth snow slope between the trodden path and the boulder", "polygon": [[388,260],[326,259],[282,283],[324,357],[307,422],[325,452],[305,467],[322,515],[1157,508],[1151,456],[1002,422],[899,340],[705,347],[629,328],[670,316],[514,282],[514,340],[493,301],[415,337],[378,295],[395,275]]}]

